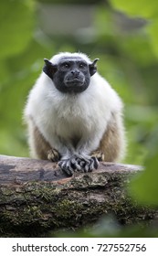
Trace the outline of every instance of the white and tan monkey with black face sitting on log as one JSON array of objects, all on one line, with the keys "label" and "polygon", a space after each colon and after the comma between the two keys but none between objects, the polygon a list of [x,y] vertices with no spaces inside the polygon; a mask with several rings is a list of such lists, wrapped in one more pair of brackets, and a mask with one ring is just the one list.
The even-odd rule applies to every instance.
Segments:
[{"label": "white and tan monkey with black face sitting on log", "polygon": [[125,151],[123,103],[84,53],[60,52],[29,92],[24,119],[35,158],[58,162],[68,176],[116,162]]}]

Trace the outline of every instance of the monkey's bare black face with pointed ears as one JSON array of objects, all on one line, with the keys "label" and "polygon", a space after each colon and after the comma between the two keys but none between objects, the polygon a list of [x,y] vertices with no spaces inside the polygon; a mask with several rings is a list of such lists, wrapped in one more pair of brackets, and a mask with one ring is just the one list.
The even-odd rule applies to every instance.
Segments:
[{"label": "monkey's bare black face with pointed ears", "polygon": [[62,58],[58,65],[53,65],[45,59],[43,71],[53,80],[58,91],[65,93],[79,93],[90,85],[90,76],[97,71],[95,59],[88,64],[81,58]]}]

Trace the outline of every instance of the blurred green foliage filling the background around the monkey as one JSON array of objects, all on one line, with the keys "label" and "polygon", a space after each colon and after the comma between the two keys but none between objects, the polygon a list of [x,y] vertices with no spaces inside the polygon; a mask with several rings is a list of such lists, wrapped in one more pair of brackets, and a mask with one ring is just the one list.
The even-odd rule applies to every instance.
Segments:
[{"label": "blurred green foliage filling the background around the monkey", "polygon": [[[42,2],[57,1],[0,2],[0,154],[28,156],[22,114],[43,59],[58,51],[79,50],[91,59],[100,58],[100,74],[124,101],[128,141],[124,162],[145,165],[142,175],[133,178],[130,195],[141,204],[158,206],[158,2],[84,1],[96,4],[92,37],[47,35],[38,22]],[[135,18],[140,26],[131,27]],[[107,229],[107,222],[102,227]],[[104,235],[142,236],[138,227],[119,231],[109,227],[111,232]],[[143,229],[144,236],[157,236],[151,230]]]}]

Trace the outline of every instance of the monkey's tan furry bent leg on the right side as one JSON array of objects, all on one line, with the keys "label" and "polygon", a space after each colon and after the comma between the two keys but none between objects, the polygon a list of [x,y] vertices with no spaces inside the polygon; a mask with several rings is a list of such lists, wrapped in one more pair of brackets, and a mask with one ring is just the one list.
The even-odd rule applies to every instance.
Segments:
[{"label": "monkey's tan furry bent leg on the right side", "polygon": [[96,156],[99,161],[115,162],[122,157],[124,149],[125,139],[121,116],[118,113],[112,113],[100,145],[91,155]]}]

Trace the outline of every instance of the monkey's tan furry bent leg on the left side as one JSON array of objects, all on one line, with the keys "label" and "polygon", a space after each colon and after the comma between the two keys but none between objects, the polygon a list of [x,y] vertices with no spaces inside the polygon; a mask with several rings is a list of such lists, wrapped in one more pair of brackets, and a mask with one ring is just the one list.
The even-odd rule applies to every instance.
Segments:
[{"label": "monkey's tan furry bent leg on the left side", "polygon": [[29,129],[30,134],[30,147],[33,155],[37,156],[39,159],[51,160],[52,162],[58,162],[60,155],[58,151],[47,143],[46,139],[40,133],[37,126],[32,123],[31,129]]}]

